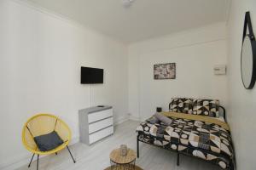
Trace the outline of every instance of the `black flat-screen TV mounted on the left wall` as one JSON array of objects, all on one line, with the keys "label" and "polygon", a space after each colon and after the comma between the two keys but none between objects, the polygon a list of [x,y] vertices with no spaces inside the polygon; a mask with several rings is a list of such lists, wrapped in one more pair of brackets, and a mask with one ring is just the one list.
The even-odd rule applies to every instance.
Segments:
[{"label": "black flat-screen TV mounted on the left wall", "polygon": [[81,84],[103,83],[103,69],[81,67]]}]

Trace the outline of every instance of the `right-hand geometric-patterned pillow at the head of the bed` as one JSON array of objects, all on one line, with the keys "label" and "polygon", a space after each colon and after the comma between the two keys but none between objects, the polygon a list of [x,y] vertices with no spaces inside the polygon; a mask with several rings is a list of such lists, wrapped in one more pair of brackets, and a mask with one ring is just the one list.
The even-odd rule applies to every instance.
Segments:
[{"label": "right-hand geometric-patterned pillow at the head of the bed", "polygon": [[218,117],[218,99],[197,99],[193,107],[193,114]]}]

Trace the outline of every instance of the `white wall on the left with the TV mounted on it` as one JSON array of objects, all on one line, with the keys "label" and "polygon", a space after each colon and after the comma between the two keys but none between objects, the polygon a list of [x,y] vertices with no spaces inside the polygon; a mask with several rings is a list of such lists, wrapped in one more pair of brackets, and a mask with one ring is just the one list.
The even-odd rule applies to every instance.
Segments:
[{"label": "white wall on the left with the TV mounted on it", "polygon": [[[91,105],[113,105],[114,122],[127,118],[126,46],[25,3],[0,1],[0,169],[30,153],[21,129],[38,113],[60,116],[78,139],[78,111],[89,106],[80,66],[103,68],[104,84],[91,85]],[[12,167],[14,168],[14,167]]]}]

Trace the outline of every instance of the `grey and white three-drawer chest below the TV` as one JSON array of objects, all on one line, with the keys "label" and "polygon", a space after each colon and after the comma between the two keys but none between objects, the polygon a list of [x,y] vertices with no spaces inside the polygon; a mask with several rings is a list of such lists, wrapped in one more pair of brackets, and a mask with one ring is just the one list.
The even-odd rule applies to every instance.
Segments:
[{"label": "grey and white three-drawer chest below the TV", "polygon": [[90,107],[79,111],[80,141],[93,144],[113,134],[112,106]]}]

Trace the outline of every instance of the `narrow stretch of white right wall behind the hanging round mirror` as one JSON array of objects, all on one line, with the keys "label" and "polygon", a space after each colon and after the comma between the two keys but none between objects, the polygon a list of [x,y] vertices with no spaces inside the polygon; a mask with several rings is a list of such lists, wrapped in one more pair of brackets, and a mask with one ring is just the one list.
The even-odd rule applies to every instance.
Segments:
[{"label": "narrow stretch of white right wall behind the hanging round mirror", "polygon": [[237,169],[256,169],[256,89],[243,88],[240,72],[241,37],[244,15],[249,10],[256,34],[256,1],[233,0],[228,21],[228,118],[236,148]]}]

